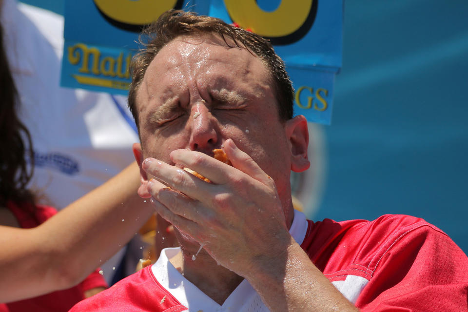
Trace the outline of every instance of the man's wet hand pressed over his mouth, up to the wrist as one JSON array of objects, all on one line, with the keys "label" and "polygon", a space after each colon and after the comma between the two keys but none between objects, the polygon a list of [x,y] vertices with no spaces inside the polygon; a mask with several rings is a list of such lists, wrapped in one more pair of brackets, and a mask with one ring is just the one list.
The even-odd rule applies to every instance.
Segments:
[{"label": "man's wet hand pressed over his mouth, up to the wrist", "polygon": [[142,167],[159,180],[148,184],[156,211],[219,264],[246,277],[284,254],[291,235],[273,179],[231,139],[224,152],[233,166],[200,152],[175,150],[170,155],[175,164],[213,183],[154,158]]}]

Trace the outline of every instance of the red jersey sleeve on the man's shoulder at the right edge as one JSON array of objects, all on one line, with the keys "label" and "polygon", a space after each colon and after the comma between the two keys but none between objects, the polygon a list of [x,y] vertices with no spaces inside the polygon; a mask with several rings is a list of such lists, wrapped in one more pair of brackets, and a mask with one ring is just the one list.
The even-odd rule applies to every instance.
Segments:
[{"label": "red jersey sleeve on the man's shoulder at the right edge", "polygon": [[436,227],[402,234],[373,263],[356,301],[362,312],[468,311],[468,257]]}]

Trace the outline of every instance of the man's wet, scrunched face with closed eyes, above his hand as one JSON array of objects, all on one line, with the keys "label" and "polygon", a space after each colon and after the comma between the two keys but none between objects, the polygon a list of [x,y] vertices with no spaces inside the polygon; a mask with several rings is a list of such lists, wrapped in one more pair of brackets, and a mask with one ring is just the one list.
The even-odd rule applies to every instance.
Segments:
[{"label": "man's wet, scrunched face with closed eyes, above his hand", "polygon": [[150,63],[137,92],[143,158],[169,164],[176,149],[212,155],[232,138],[290,194],[290,144],[270,75],[246,49],[220,39],[178,37]]}]

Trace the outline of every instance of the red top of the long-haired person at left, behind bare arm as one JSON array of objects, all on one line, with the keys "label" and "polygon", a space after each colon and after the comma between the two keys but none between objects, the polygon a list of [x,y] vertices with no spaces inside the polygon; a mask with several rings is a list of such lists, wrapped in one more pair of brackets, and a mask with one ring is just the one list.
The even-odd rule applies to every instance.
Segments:
[{"label": "red top of the long-haired person at left, behind bare arm", "polygon": [[[7,208],[15,215],[20,227],[23,229],[34,228],[51,216],[57,214],[57,210],[49,206],[19,205],[9,201]],[[84,299],[84,292],[97,287],[107,288],[107,283],[97,269],[86,277],[84,281],[70,289],[51,292],[42,296],[24,299],[20,301],[0,304],[0,312],[66,312],[77,302]]]}]

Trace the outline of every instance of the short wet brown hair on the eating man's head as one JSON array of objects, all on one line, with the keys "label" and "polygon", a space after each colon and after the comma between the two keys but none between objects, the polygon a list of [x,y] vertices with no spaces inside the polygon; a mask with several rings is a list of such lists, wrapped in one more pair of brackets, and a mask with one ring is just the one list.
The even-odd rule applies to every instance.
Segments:
[{"label": "short wet brown hair on the eating man's head", "polygon": [[272,76],[280,119],[285,121],[292,118],[294,98],[292,83],[288,73],[286,73],[283,60],[276,55],[268,40],[217,18],[197,15],[194,12],[169,10],[140,35],[140,43],[144,48],[133,58],[130,65],[132,83],[128,94],[128,106],[138,129],[136,97],[146,69],[166,44],[179,36],[191,34],[219,35],[228,46],[230,45],[226,38],[232,39],[236,46],[247,48],[251,53],[254,53],[266,64]]}]

